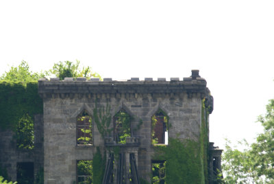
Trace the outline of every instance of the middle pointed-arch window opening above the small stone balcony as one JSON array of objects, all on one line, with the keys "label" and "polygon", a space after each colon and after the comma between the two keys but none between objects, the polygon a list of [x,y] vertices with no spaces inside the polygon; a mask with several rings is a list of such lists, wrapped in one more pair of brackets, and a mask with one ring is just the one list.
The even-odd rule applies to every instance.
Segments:
[{"label": "middle pointed-arch window opening above the small stone balcony", "polygon": [[114,140],[117,143],[125,143],[127,137],[131,137],[132,117],[121,109],[114,115]]}]

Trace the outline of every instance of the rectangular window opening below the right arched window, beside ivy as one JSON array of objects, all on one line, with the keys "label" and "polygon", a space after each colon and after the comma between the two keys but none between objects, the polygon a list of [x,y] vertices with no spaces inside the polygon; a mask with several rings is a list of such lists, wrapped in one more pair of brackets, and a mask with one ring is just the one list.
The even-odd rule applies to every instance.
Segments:
[{"label": "rectangular window opening below the right arched window, beside ivy", "polygon": [[152,183],[165,184],[166,181],[166,161],[152,161]]}]

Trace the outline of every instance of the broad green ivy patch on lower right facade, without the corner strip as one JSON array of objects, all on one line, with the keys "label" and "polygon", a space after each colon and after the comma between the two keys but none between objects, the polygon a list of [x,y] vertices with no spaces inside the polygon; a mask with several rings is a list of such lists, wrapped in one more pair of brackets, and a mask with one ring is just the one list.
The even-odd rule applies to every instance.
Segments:
[{"label": "broad green ivy patch on lower right facade, without the corner strip", "polygon": [[166,161],[166,183],[204,183],[201,148],[192,140],[169,139],[169,146],[156,146],[154,160]]}]

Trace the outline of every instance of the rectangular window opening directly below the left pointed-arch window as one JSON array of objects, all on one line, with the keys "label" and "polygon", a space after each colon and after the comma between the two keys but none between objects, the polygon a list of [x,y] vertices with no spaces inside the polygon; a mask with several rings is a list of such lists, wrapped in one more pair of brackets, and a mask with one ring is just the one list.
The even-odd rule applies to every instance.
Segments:
[{"label": "rectangular window opening directly below the left pointed-arch window", "polygon": [[79,160],[77,161],[77,183],[91,184],[93,179],[92,161]]}]

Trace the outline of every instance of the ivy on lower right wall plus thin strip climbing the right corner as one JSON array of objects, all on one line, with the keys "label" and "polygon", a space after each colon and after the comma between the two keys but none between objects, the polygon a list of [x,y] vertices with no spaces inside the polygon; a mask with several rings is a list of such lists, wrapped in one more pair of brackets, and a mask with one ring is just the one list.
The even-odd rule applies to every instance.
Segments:
[{"label": "ivy on lower right wall plus thin strip climbing the right corner", "polygon": [[169,139],[169,146],[155,146],[153,159],[166,161],[165,182],[208,183],[208,111],[201,106],[199,141]]}]

